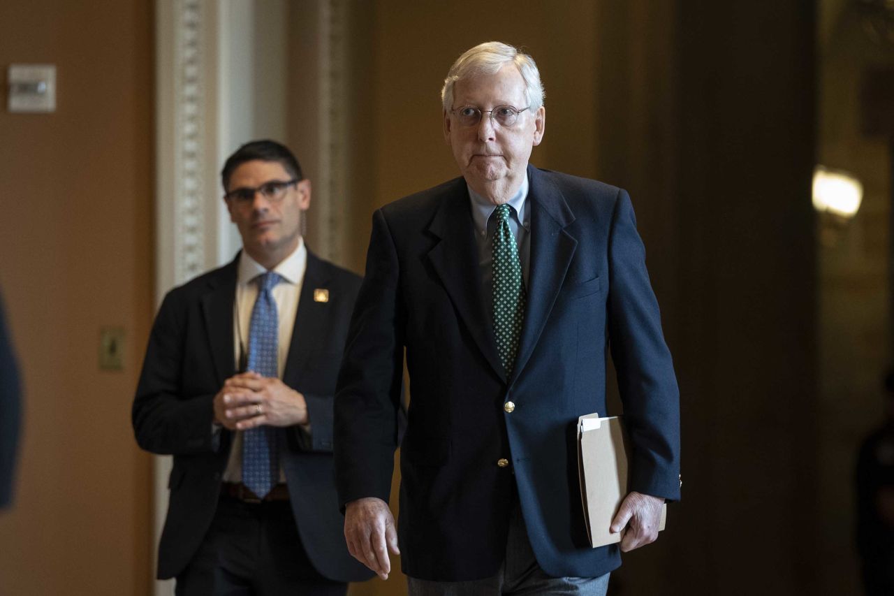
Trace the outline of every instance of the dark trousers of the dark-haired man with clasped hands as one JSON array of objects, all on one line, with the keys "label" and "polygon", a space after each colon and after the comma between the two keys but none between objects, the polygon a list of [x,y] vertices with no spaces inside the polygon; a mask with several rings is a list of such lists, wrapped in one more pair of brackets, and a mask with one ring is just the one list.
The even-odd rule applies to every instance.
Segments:
[{"label": "dark trousers of the dark-haired man with clasped hands", "polygon": [[301,546],[289,501],[221,497],[204,541],[177,576],[177,596],[344,596],[347,583],[317,573]]}]

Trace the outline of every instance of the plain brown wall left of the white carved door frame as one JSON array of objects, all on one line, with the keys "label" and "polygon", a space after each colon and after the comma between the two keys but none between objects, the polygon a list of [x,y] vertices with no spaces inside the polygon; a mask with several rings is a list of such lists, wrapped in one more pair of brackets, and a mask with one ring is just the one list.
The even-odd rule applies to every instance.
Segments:
[{"label": "plain brown wall left of the white carved door frame", "polygon": [[[130,406],[152,315],[152,3],[0,3],[0,67],[57,66],[57,110],[0,110],[0,285],[24,427],[0,593],[148,593],[149,459]],[[101,371],[101,326],[127,334]]]}]

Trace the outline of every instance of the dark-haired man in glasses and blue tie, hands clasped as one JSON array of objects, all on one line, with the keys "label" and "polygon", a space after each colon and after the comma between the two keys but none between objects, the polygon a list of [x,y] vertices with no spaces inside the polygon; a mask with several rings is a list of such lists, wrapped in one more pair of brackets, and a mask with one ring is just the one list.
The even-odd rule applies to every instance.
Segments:
[{"label": "dark-haired man in glasses and blue tie, hands clasped", "polygon": [[340,595],[333,393],[360,279],[305,246],[310,181],[283,145],[226,160],[242,251],[164,297],[133,403],[139,446],[173,454],[158,577],[178,594]]}]

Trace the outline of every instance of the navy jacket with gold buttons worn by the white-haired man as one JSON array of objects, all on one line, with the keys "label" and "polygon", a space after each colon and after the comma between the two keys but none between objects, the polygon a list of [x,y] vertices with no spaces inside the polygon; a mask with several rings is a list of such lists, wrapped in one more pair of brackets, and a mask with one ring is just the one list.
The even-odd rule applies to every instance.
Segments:
[{"label": "navy jacket with gold buttons worn by the white-haired man", "polygon": [[578,416],[605,413],[610,349],[632,444],[629,489],[679,498],[679,393],[628,194],[533,166],[528,176],[530,278],[509,377],[481,299],[489,290],[465,180],[373,216],[335,398],[336,481],[342,507],[387,500],[405,352],[399,535],[413,577],[495,574],[516,490],[547,574],[620,565],[616,545],[589,547],[578,488]]}]

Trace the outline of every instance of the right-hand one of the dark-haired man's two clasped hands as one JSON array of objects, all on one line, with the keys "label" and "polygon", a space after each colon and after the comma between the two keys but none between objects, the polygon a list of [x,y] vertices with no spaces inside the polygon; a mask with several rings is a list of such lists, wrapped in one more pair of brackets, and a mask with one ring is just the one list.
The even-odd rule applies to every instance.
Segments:
[{"label": "right-hand one of the dark-haired man's two clasped hands", "polygon": [[236,424],[238,430],[253,429],[264,424],[292,426],[309,422],[308,404],[304,396],[283,383],[281,379],[263,377],[257,372],[243,372],[227,379],[226,384],[251,392],[250,399],[245,404],[235,402],[228,404],[237,413],[241,413],[243,409],[254,413],[250,418],[240,420]]}]

